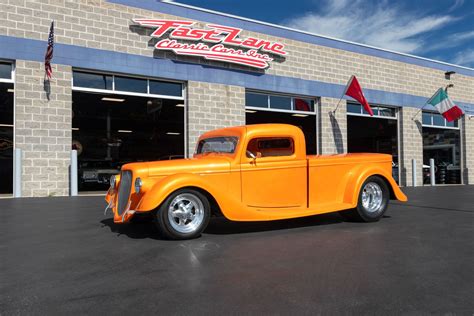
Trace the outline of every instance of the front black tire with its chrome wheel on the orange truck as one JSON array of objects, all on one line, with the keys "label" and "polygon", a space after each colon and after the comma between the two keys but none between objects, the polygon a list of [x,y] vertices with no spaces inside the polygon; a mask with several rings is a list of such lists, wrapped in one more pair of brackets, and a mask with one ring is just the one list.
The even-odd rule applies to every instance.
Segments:
[{"label": "front black tire with its chrome wheel on the orange truck", "polygon": [[[189,206],[189,211],[185,206]],[[155,224],[163,237],[175,240],[192,239],[199,237],[209,224],[211,207],[201,192],[181,189],[168,196],[154,215]]]}]

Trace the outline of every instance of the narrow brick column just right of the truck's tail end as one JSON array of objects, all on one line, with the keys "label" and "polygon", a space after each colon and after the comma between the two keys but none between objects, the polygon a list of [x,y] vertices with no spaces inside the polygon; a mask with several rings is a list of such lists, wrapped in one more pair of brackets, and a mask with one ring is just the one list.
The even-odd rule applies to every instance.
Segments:
[{"label": "narrow brick column just right of the truck's tail end", "polygon": [[403,186],[413,186],[411,161],[416,159],[417,185],[423,185],[423,132],[421,112],[411,107],[400,110],[400,155],[401,181]]}]

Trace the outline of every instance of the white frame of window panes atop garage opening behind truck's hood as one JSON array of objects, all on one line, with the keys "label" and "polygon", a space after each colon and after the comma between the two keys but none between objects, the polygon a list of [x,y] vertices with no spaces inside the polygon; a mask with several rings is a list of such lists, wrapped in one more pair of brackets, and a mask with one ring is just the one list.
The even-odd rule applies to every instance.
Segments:
[{"label": "white frame of window panes atop garage opening behind truck's hood", "polygon": [[[78,87],[74,86],[74,72],[81,72],[81,73],[88,73],[88,74],[95,74],[95,75],[106,75],[112,76],[112,89],[97,89],[97,88],[86,88],[86,87]],[[124,77],[130,79],[142,79],[146,80],[147,82],[147,92],[130,92],[130,91],[122,91],[115,89],[115,77]],[[169,83],[178,83],[181,84],[181,96],[172,96],[172,95],[163,95],[163,94],[153,94],[150,93],[150,81],[164,81]],[[170,99],[170,100],[185,100],[185,84],[183,81],[178,80],[169,80],[169,79],[162,79],[162,78],[150,78],[150,77],[141,77],[141,76],[134,76],[128,74],[118,74],[118,73],[110,73],[110,72],[99,72],[93,70],[85,70],[85,69],[73,69],[73,76],[71,78],[71,85],[73,91],[83,91],[83,92],[91,92],[91,93],[104,93],[104,94],[116,94],[116,95],[130,95],[130,96],[138,96],[138,97],[148,97],[148,98],[161,98],[161,99]]]}]

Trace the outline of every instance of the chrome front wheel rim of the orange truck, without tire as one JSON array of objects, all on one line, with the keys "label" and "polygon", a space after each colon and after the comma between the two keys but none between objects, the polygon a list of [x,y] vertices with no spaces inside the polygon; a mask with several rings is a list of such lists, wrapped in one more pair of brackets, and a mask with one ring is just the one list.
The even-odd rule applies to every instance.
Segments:
[{"label": "chrome front wheel rim of the orange truck, without tire", "polygon": [[192,193],[181,193],[171,201],[168,219],[177,232],[193,233],[204,221],[204,204]]}]

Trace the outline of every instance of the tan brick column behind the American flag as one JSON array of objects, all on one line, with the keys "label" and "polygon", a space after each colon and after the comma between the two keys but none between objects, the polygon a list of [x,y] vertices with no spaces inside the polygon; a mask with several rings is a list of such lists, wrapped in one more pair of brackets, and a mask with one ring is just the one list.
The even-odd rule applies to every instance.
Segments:
[{"label": "tan brick column behind the American flag", "polygon": [[48,99],[44,64],[16,62],[15,146],[23,150],[24,197],[69,194],[71,75],[70,66],[53,65]]}]

